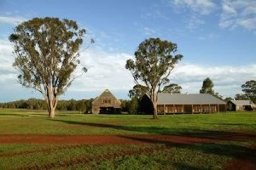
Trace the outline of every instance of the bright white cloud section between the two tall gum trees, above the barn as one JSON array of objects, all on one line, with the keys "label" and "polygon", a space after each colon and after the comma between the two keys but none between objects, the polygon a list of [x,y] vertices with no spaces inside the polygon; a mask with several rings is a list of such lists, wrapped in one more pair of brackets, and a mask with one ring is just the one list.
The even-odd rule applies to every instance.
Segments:
[{"label": "bright white cloud section between the two tall gum trees, above the barn", "polygon": [[81,64],[88,68],[86,74],[73,83],[73,91],[128,90],[133,86],[132,77],[125,69],[129,54],[109,54],[88,49],[81,54]]}]

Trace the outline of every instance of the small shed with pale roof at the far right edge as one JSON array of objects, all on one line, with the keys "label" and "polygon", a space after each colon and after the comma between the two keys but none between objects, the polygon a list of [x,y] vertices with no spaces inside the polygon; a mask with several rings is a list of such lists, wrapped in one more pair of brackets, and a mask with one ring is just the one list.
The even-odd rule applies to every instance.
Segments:
[{"label": "small shed with pale roof at the far right edge", "polygon": [[229,111],[253,111],[256,108],[250,100],[230,100],[227,106]]}]

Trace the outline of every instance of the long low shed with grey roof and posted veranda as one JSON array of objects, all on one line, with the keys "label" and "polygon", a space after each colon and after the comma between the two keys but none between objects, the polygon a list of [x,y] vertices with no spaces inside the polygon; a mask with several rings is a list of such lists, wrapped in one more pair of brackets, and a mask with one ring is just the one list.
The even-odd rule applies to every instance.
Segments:
[{"label": "long low shed with grey roof and posted veranda", "polygon": [[[144,95],[141,100],[142,111],[152,113],[153,105]],[[226,103],[211,94],[158,94],[159,114],[213,113],[226,111]]]}]

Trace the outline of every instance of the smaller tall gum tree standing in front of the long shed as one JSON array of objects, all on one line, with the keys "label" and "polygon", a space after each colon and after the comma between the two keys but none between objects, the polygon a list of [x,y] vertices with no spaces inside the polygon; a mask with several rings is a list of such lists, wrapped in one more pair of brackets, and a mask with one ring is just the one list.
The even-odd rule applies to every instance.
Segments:
[{"label": "smaller tall gum tree standing in front of the long shed", "polygon": [[149,38],[141,42],[135,52],[135,60],[128,59],[125,68],[131,71],[137,85],[148,88],[148,96],[154,105],[154,119],[157,119],[157,94],[160,88],[170,82],[174,66],[183,58],[177,52],[177,44]]}]

